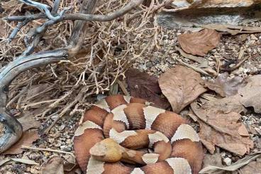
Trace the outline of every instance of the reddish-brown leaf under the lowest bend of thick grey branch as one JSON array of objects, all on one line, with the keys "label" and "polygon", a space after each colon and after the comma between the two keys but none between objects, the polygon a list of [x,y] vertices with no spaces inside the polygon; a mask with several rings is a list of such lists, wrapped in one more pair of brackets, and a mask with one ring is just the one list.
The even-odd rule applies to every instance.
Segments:
[{"label": "reddish-brown leaf under the lowest bend of thick grey branch", "polygon": [[19,154],[23,152],[23,148],[21,146],[31,146],[34,141],[38,140],[38,132],[37,131],[25,131],[23,132],[23,136],[21,139],[15,143],[11,148],[9,148],[7,151],[4,151],[5,154]]}]

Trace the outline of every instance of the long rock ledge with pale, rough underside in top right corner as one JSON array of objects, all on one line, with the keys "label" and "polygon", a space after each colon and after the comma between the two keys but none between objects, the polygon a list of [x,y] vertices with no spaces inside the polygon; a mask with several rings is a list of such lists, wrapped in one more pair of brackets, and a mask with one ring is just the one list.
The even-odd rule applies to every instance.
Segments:
[{"label": "long rock ledge with pale, rough underside in top right corner", "polygon": [[213,23],[238,26],[244,21],[259,20],[260,4],[261,0],[175,0],[157,14],[156,20],[164,28],[190,31]]}]

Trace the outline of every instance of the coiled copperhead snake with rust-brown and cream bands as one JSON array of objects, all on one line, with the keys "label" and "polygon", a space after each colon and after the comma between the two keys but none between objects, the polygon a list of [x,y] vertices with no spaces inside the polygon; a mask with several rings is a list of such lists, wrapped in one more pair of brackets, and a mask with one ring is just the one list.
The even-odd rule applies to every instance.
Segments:
[{"label": "coiled copperhead snake with rust-brown and cream bands", "polygon": [[77,162],[90,174],[199,173],[204,153],[187,123],[144,99],[106,97],[84,114],[75,131]]}]

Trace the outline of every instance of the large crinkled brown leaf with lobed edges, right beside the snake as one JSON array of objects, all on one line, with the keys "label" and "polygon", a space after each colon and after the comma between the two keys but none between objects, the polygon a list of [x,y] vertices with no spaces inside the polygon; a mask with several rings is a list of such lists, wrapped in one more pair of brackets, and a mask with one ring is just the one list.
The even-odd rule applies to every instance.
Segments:
[{"label": "large crinkled brown leaf with lobed edges, right beside the snake", "polygon": [[[215,146],[243,156],[253,148],[253,142],[248,136],[240,136],[242,126],[240,114],[236,112],[224,113],[215,107],[200,108],[196,102],[191,104],[194,114],[199,117],[199,136],[206,148],[213,153]],[[245,128],[244,128],[245,129]]]}]

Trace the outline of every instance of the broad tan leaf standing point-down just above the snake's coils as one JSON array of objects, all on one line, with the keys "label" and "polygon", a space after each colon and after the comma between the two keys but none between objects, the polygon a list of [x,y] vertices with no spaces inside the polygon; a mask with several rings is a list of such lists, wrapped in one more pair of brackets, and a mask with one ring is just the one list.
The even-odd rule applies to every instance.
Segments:
[{"label": "broad tan leaf standing point-down just above the snake's coils", "polygon": [[194,101],[200,94],[206,92],[204,81],[200,74],[184,66],[167,70],[159,79],[162,93],[169,100],[173,112],[179,113]]}]

